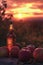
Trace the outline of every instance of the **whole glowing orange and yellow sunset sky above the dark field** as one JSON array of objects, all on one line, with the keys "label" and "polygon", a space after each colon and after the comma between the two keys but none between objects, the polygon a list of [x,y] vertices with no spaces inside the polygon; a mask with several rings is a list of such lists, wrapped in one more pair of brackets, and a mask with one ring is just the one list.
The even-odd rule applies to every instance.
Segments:
[{"label": "whole glowing orange and yellow sunset sky above the dark field", "polygon": [[43,17],[43,0],[7,0],[8,8],[15,18]]}]

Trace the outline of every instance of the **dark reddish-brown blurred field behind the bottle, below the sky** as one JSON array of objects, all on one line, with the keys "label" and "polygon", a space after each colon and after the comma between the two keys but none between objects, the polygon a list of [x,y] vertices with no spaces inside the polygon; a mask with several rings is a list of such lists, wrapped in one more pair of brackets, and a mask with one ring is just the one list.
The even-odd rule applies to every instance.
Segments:
[{"label": "dark reddish-brown blurred field behind the bottle, below the sky", "polygon": [[34,43],[36,46],[43,43],[43,19],[30,19],[13,21],[10,19],[0,20],[0,46],[6,45],[7,34],[9,33],[9,25],[13,22],[14,34],[16,42]]}]

